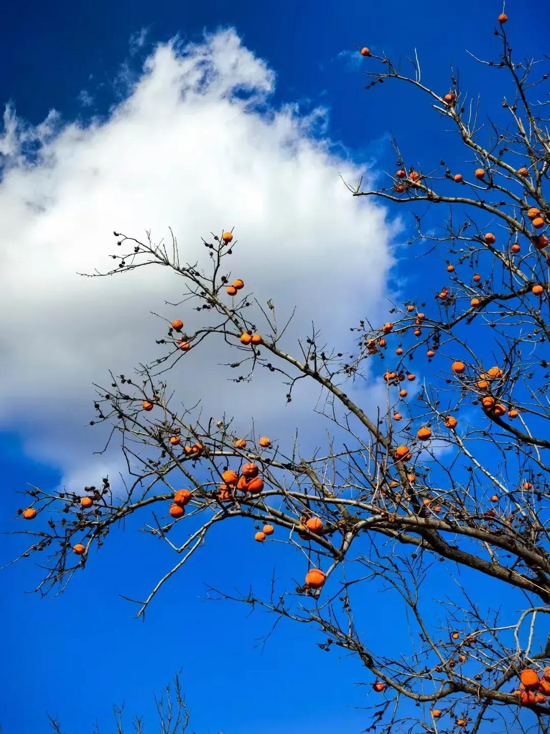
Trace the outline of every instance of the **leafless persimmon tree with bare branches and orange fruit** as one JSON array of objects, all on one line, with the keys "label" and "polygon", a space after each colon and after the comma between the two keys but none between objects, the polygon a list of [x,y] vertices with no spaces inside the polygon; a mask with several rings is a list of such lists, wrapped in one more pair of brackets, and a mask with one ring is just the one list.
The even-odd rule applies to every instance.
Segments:
[{"label": "leafless persimmon tree with bare branches and orange fruit", "polygon": [[[320,633],[323,650],[351,653],[373,686],[369,726],[548,730],[548,87],[541,64],[515,59],[506,21],[501,15],[494,31],[496,60],[477,59],[510,84],[502,117],[483,124],[458,75],[448,90],[432,90],[416,53],[409,75],[361,50],[370,93],[383,82],[412,85],[457,134],[450,147],[462,150],[463,165],[424,170],[420,151],[396,140],[396,172],[381,188],[348,184],[354,196],[411,208],[415,255],[447,263],[437,288],[392,304],[386,324],[358,314],[353,356],[349,344],[325,344],[320,330],[291,343],[274,304],[247,297],[249,284],[231,275],[236,231],[203,241],[205,264],[186,262],[173,235],[156,244],[150,234],[115,233],[114,268],[94,277],[160,265],[180,279],[184,299],[158,335],[164,354],[136,376],[113,374],[98,386],[94,422],[111,424],[110,440],[120,441],[125,490],[115,493],[106,478],[83,496],[27,492],[21,519],[34,525],[21,531],[30,542],[22,555],[49,554],[40,592],[63,589],[125,517],[139,515],[175,556],[140,596],[144,617],[219,523],[248,519],[251,539],[255,532],[259,543],[276,538],[295,549],[296,573],[279,574],[268,597],[253,587],[210,594],[301,622]],[[205,319],[193,333],[190,308]],[[235,383],[265,370],[290,401],[302,380],[315,382],[334,428],[326,450],[306,456],[298,438],[270,440],[269,426],[241,435],[229,418],[202,416],[196,400],[175,404],[167,378],[182,360],[199,366],[207,340],[232,353]],[[380,377],[385,404],[351,396],[360,394],[354,381]],[[442,574],[455,591],[434,603]],[[391,650],[364,632],[357,619],[369,589],[386,590],[382,609],[398,605],[408,647]]]}]

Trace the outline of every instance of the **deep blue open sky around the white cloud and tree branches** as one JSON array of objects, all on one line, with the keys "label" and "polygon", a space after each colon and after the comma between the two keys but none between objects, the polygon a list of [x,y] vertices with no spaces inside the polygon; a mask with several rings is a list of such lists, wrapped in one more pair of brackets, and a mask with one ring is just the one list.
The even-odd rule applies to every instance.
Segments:
[{"label": "deep blue open sky around the white cloud and tree branches", "polygon": [[[464,49],[495,57],[492,29],[501,10],[501,3],[493,0],[467,5],[395,0],[391,7],[365,0],[8,4],[1,19],[0,101],[12,100],[18,114],[32,123],[43,120],[52,107],[67,119],[90,111],[105,113],[116,99],[111,81],[128,57],[131,34],[146,26],[149,42],[176,33],[198,40],[203,29],[232,25],[246,46],[276,71],[275,105],[298,101],[306,109],[328,106],[330,137],[341,140],[358,161],[375,156],[381,170],[395,168],[387,143],[389,131],[395,131],[403,150],[422,154],[429,168],[427,159],[439,161],[445,142],[436,115],[406,87],[384,84],[365,92],[362,67],[353,70],[337,56],[353,51],[355,44],[374,51],[384,48],[394,57],[417,46],[427,81],[447,87],[449,64],[458,63],[463,87],[479,89],[485,109],[497,110],[500,95],[494,80],[499,77],[474,65]],[[514,1],[507,12],[507,29],[516,46],[535,56],[543,53],[550,29],[547,4]],[[83,89],[95,98],[91,108],[83,108],[78,99]],[[408,277],[414,280],[415,275],[408,272]],[[27,481],[59,481],[55,467],[36,465],[21,453],[16,436],[2,437],[0,465],[3,518],[18,504],[14,488]],[[2,537],[1,545],[10,556],[17,543]],[[260,613],[248,617],[244,608],[200,601],[203,580],[224,588],[235,583],[244,590],[249,579],[268,576],[279,551],[274,545],[260,551],[252,548],[248,533],[240,537],[220,531],[202,561],[166,587],[144,625],[131,618],[132,608],[118,594],[143,588],[143,580],[153,581],[168,559],[132,528],[112,537],[109,553],[93,559],[86,574],[77,575],[65,595],[54,600],[23,594],[36,578],[32,562],[4,570],[3,734],[45,731],[46,710],[59,713],[67,734],[91,730],[96,715],[106,721],[111,702],[126,701],[129,713],[150,713],[151,694],[180,667],[197,731],[240,734],[260,728],[261,722],[268,734],[283,725],[288,728],[290,721],[291,730],[304,733],[362,730],[364,713],[348,708],[364,705],[363,691],[353,687],[354,681],[364,680],[357,664],[318,650],[314,643],[320,637],[315,634],[304,642],[302,631],[292,625],[283,625],[260,655],[254,639],[268,631],[272,620]],[[364,599],[364,605],[367,617],[372,610],[374,618],[373,600]],[[395,635],[399,620],[391,605],[384,608],[383,619],[376,615],[375,625],[377,636]],[[307,715],[310,698],[318,711],[315,720]]]}]

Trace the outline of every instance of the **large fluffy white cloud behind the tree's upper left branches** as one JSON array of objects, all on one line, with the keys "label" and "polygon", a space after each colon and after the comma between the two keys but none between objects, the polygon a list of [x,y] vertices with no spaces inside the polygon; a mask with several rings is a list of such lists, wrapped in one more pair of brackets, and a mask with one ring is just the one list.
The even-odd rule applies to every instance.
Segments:
[{"label": "large fluffy white cloud behind the tree's upper left branches", "polygon": [[[307,334],[314,319],[342,351],[349,327],[384,308],[392,236],[384,210],[345,190],[339,173],[355,180],[358,171],[314,135],[322,112],[274,109],[274,84],[229,29],[155,48],[106,120],[62,126],[51,112],[33,128],[12,109],[4,116],[0,425],[59,465],[70,486],[114,466],[103,457],[84,479],[102,440],[81,429],[93,417],[92,381],[108,384],[107,368],[130,374],[159,355],[165,325],[150,310],[191,326],[201,318],[164,305],[181,292],[168,271],[78,277],[109,269],[113,230],[147,228],[158,240],[171,226],[185,258],[206,264],[200,237],[235,226],[233,275],[260,301],[274,299],[279,320],[296,304],[295,333]],[[205,396],[206,413],[238,415],[243,432],[252,415],[272,435],[304,425],[314,386],[300,385],[285,407],[286,390],[270,374],[252,386],[227,382],[234,374],[217,366],[230,361],[221,342],[188,357],[169,374],[184,401]]]}]

